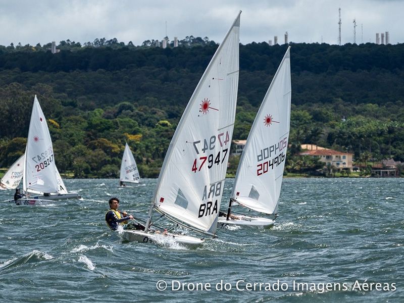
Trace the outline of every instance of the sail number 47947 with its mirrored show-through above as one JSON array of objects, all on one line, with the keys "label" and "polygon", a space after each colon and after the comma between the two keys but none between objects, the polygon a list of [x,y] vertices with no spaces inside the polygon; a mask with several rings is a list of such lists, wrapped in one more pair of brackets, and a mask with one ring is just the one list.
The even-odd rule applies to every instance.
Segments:
[{"label": "sail number 47947 with its mirrored show-through above", "polygon": [[204,139],[203,142],[201,140],[193,142],[193,147],[195,148],[196,154],[204,153],[206,156],[195,158],[192,165],[192,171],[196,173],[200,171],[201,168],[207,163],[208,168],[212,168],[213,165],[220,165],[224,162],[227,156],[228,148],[223,149],[222,151],[218,151],[217,154],[210,154],[210,150],[214,150],[216,144],[220,144],[220,147],[227,145],[230,142],[229,132],[220,133],[217,136],[212,136],[209,139]]}]

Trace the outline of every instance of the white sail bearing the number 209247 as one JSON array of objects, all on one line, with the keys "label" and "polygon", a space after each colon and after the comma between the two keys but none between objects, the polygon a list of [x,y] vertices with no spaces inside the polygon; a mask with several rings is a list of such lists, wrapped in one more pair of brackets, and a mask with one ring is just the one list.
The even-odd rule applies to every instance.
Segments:
[{"label": "white sail bearing the number 209247", "polygon": [[24,191],[58,192],[51,135],[36,95],[25,155]]}]

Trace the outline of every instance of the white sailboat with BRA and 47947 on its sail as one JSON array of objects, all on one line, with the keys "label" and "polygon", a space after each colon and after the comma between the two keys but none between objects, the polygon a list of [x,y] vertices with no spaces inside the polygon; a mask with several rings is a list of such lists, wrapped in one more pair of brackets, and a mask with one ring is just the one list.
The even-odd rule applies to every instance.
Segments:
[{"label": "white sailboat with BRA and 47947 on its sail", "polygon": [[[180,119],[157,180],[144,231],[124,230],[124,239],[159,242],[171,237],[178,243],[200,244],[206,236],[217,236],[237,102],[240,14],[241,11]],[[151,219],[155,211],[204,238],[154,232]]]}]

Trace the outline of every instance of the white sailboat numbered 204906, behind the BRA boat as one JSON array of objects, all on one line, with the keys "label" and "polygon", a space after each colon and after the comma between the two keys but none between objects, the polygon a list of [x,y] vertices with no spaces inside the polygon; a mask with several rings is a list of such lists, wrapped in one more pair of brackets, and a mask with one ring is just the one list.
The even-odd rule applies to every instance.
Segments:
[{"label": "white sailboat numbered 204906, behind the BRA boat", "polygon": [[[243,148],[227,215],[218,225],[270,226],[277,217],[290,128],[290,46],[268,88]],[[273,215],[233,215],[232,203]],[[226,212],[224,212],[226,213]]]}]

